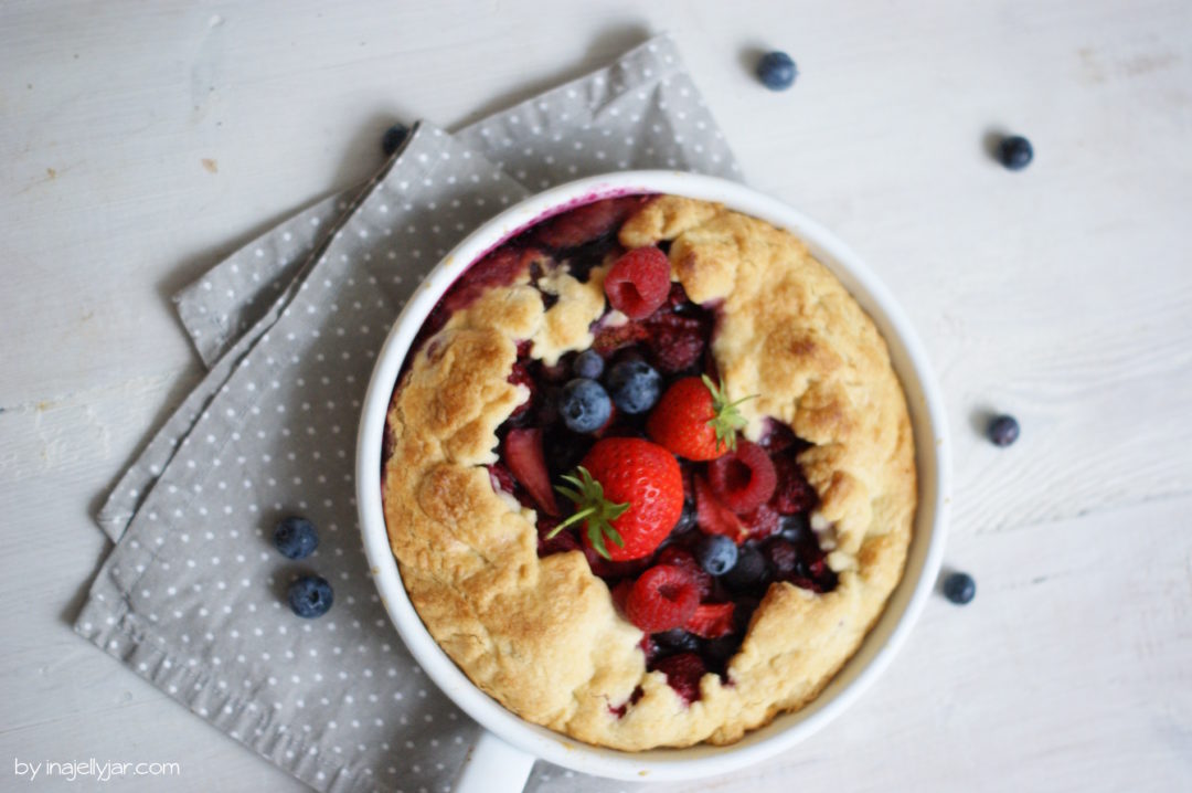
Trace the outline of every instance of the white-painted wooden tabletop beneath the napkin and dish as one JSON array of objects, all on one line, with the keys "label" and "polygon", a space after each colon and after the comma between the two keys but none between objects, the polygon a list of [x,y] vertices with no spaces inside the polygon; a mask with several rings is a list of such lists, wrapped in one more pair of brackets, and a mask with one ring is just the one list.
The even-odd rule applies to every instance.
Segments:
[{"label": "white-painted wooden tabletop beneath the napkin and dish", "polygon": [[[100,494],[200,374],[167,296],[361,180],[392,119],[459,124],[657,30],[749,181],[849,240],[925,337],[948,560],[979,586],[845,718],[702,789],[1192,789],[1182,0],[5,2],[0,788],[15,760],[89,757],[300,788],[69,628]],[[793,54],[794,89],[757,86],[758,47]],[[1028,171],[988,159],[999,130],[1033,141]],[[1016,446],[982,439],[988,409]]]}]

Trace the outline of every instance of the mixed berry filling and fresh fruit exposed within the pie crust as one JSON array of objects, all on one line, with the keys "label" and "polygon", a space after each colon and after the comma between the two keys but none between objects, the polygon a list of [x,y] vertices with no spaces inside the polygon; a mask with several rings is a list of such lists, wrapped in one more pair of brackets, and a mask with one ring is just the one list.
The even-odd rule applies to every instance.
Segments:
[{"label": "mixed berry filling and fresh fruit exposed within the pie crust", "polygon": [[617,243],[642,200],[596,202],[505,242],[452,286],[420,337],[486,287],[533,281],[528,262],[542,252],[581,280],[610,264],[611,310],[590,349],[547,366],[519,343],[509,380],[530,396],[497,430],[490,479],[538,512],[540,557],[584,553],[645,633],[647,669],[690,702],[703,674],[727,676],[771,583],[825,593],[837,576],[809,527],[818,496],[799,464],[809,444],[772,419],[757,442],[741,436],[741,399],[725,394],[710,353],[715,309],[671,283],[663,247]]}]

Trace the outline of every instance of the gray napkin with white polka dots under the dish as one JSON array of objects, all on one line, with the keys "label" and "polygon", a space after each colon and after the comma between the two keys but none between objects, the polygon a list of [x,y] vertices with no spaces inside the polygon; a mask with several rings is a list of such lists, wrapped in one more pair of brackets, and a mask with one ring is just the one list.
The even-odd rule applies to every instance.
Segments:
[{"label": "gray napkin with white polka dots under the dish", "polygon": [[[415,126],[368,184],[311,206],[175,298],[210,371],[99,514],[118,544],[75,630],[319,791],[449,791],[478,727],[379,603],[353,500],[360,399],[418,279],[471,229],[582,175],[735,163],[673,44],[448,135]],[[288,514],[321,545],[271,544]],[[323,618],[285,605],[317,572]],[[539,763],[530,789],[607,789]]]}]

